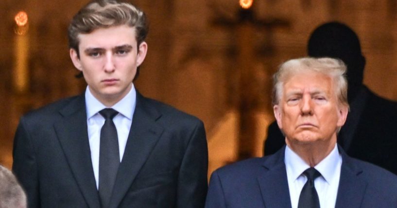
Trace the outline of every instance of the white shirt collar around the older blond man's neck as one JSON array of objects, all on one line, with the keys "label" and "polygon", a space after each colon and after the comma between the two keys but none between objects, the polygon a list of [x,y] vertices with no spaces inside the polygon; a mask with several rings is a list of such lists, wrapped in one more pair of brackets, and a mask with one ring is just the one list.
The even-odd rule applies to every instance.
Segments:
[{"label": "white shirt collar around the older blond man's neck", "polygon": [[[292,179],[291,181],[295,181],[306,169],[310,168],[288,145],[285,148],[284,162],[288,173],[287,176]],[[328,156],[321,160],[314,168],[321,173],[321,176],[324,177],[327,183],[331,183],[335,176],[335,170],[341,164],[342,156],[339,154],[337,144],[335,144],[335,147]]]}]

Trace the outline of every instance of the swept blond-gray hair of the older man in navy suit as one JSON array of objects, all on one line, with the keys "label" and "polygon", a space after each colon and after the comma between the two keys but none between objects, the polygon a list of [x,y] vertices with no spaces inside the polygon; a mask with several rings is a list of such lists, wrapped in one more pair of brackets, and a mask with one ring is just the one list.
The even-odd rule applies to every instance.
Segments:
[{"label": "swept blond-gray hair of the older man in navy suit", "polygon": [[279,66],[276,74],[273,76],[273,106],[278,105],[280,101],[284,83],[293,75],[302,71],[319,72],[332,78],[338,104],[349,108],[347,102],[347,80],[345,77],[346,65],[339,59],[311,57],[292,59]]}]

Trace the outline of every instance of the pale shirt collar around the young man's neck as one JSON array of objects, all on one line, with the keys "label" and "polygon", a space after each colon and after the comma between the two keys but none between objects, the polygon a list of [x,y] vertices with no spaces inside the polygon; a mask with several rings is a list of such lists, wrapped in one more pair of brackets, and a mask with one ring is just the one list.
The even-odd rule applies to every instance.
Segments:
[{"label": "pale shirt collar around the young man's neck", "polygon": [[[97,98],[95,98],[88,86],[86,88],[86,112],[87,112],[87,119],[94,116],[96,113],[100,112],[106,106],[102,104]],[[125,95],[119,102],[111,106],[114,110],[118,111],[120,114],[132,120],[132,116],[135,111],[135,106],[137,104],[137,91],[135,90],[134,84],[132,84],[130,92]],[[132,108],[131,108],[132,106]]]}]

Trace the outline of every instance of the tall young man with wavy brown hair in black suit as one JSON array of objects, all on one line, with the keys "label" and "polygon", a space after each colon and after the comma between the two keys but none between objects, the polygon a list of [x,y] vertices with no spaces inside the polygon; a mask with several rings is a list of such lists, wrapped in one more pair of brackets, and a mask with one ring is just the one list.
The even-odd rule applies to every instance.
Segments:
[{"label": "tall young man with wavy brown hair in black suit", "polygon": [[13,171],[30,208],[200,208],[207,193],[203,123],[142,96],[145,14],[92,1],[69,26],[84,94],[20,119]]}]

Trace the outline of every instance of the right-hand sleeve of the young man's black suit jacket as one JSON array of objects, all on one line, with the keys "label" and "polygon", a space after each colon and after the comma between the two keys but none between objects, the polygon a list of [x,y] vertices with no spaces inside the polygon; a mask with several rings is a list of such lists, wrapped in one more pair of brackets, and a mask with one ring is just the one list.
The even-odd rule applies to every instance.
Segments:
[{"label": "right-hand sleeve of the young man's black suit jacket", "polygon": [[207,195],[208,148],[206,132],[200,121],[190,134],[179,173],[178,208],[203,208]]}]

